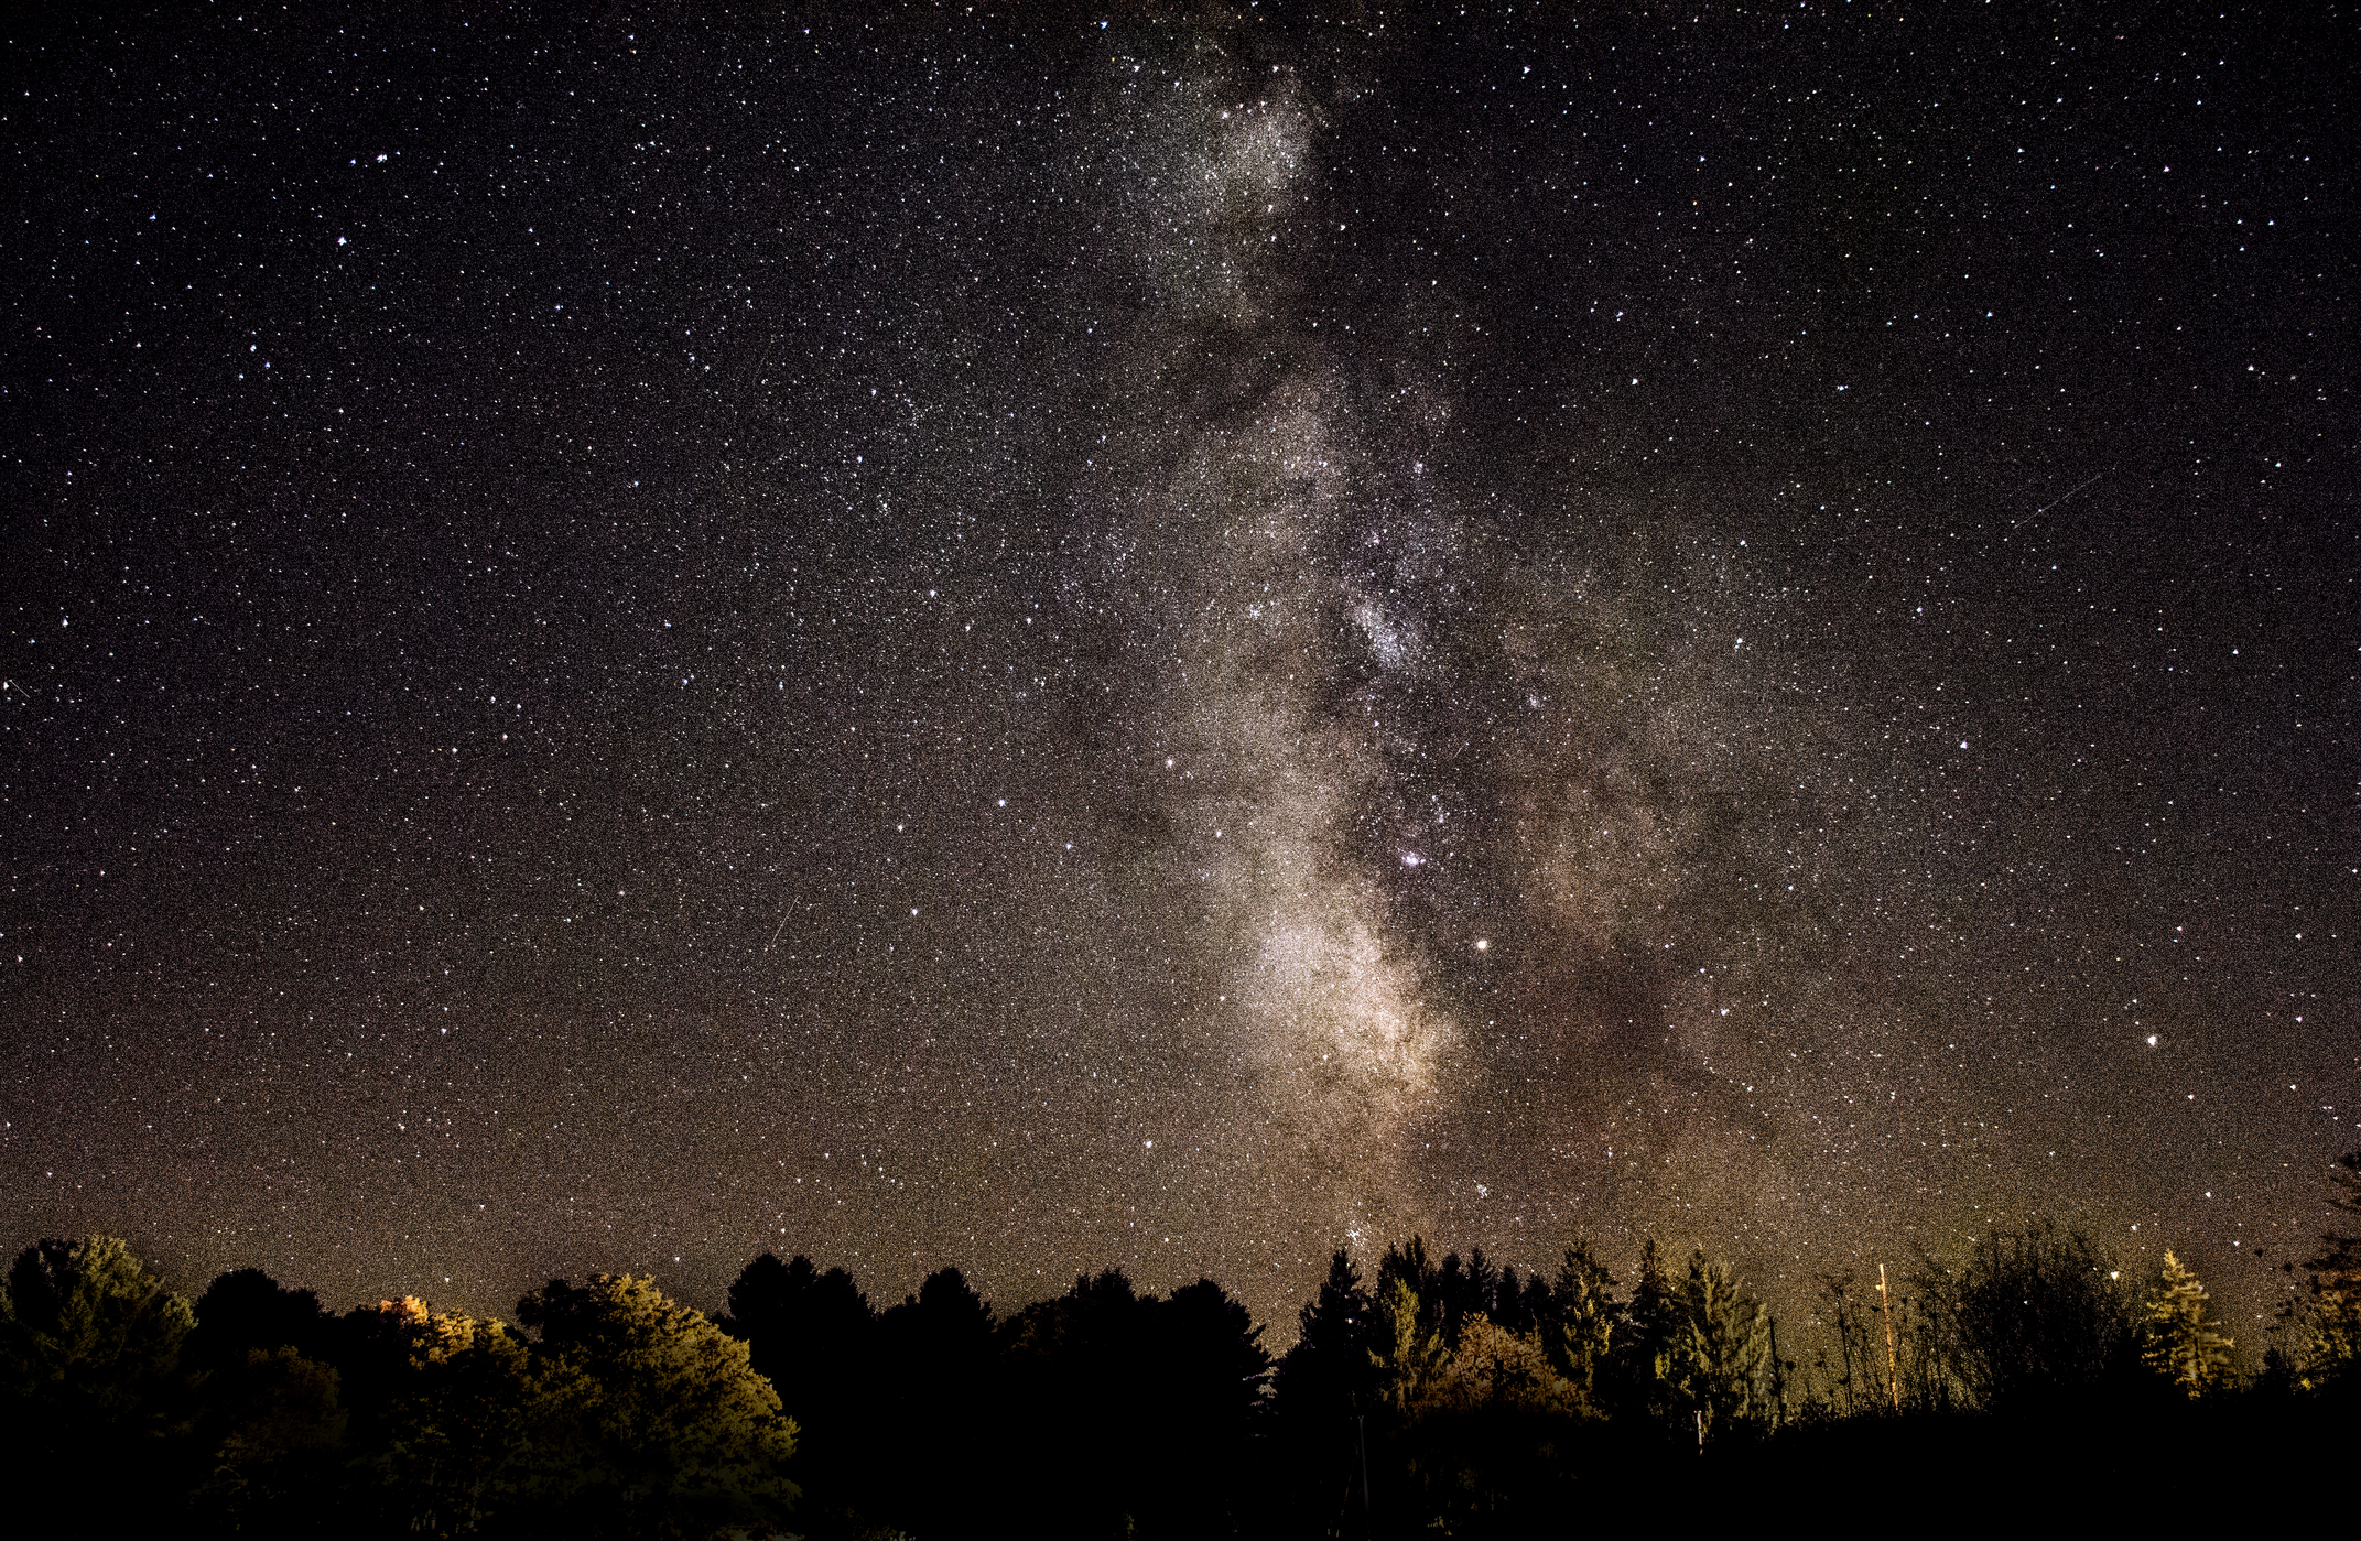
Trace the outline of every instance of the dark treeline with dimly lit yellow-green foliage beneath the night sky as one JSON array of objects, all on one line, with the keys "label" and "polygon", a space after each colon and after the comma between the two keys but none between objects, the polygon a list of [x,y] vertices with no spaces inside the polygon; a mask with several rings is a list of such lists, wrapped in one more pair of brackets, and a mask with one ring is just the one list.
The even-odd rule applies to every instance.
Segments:
[{"label": "dark treeline with dimly lit yellow-green foliage beneath the night sky", "polygon": [[[2361,1154],[2335,1182],[2361,1215]],[[2241,1376],[2172,1253],[2130,1279],[2047,1225],[1882,1286],[1823,1274],[1785,1333],[1728,1265],[1653,1241],[1627,1281],[1582,1241],[1549,1277],[1339,1251],[1280,1359],[1216,1281],[1121,1270],[1003,1317],[956,1267],[878,1310],[765,1253],[720,1317],[600,1274],[505,1324],[333,1314],[260,1270],[189,1303],[116,1239],[52,1239],[0,1291],[0,1440],[19,1496],[175,1534],[1471,1536],[2000,1475],[2120,1515],[2167,1454],[2349,1458],[2361,1237],[2304,1274]]]}]

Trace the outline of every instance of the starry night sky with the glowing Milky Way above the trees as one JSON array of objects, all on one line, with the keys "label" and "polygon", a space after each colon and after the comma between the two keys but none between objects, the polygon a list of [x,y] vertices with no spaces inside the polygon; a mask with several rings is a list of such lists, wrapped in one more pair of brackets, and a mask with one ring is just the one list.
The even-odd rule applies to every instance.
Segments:
[{"label": "starry night sky with the glowing Milky Way above the trees", "polygon": [[2352,17],[1336,9],[19,14],[0,1241],[1284,1340],[2054,1218],[2250,1350]]}]

